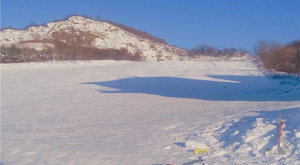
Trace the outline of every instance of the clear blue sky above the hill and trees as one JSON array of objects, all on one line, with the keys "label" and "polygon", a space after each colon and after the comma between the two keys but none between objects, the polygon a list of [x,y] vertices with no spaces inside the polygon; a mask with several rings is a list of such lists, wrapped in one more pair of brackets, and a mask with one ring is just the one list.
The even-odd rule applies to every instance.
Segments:
[{"label": "clear blue sky above the hill and trees", "polygon": [[299,8],[299,0],[1,0],[1,27],[85,13],[183,48],[206,43],[251,49],[259,39],[299,39]]}]

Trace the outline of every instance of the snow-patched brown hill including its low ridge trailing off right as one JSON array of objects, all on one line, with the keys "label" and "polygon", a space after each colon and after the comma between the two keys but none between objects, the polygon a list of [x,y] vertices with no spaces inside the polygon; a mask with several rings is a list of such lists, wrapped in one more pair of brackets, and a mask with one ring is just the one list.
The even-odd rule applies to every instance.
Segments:
[{"label": "snow-patched brown hill including its low ridge trailing off right", "polygon": [[2,30],[0,35],[1,45],[15,44],[17,47],[37,50],[53,48],[54,43],[58,40],[68,44],[101,49],[126,48],[131,54],[140,52],[142,60],[234,61],[253,59],[249,54],[239,52],[232,56],[189,57],[187,50],[134,35],[105,21],[94,21],[81,16],[71,16],[67,20],[49,22],[44,26],[32,26],[27,30],[6,29]]}]

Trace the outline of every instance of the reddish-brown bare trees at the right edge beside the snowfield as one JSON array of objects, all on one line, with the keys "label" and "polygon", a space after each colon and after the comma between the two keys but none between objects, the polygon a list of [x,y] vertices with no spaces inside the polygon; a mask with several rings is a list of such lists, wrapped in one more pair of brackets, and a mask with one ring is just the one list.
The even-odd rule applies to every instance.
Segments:
[{"label": "reddish-brown bare trees at the right edge beside the snowfield", "polygon": [[288,73],[299,73],[300,71],[300,40],[285,45],[262,40],[258,41],[254,51],[267,69]]}]

